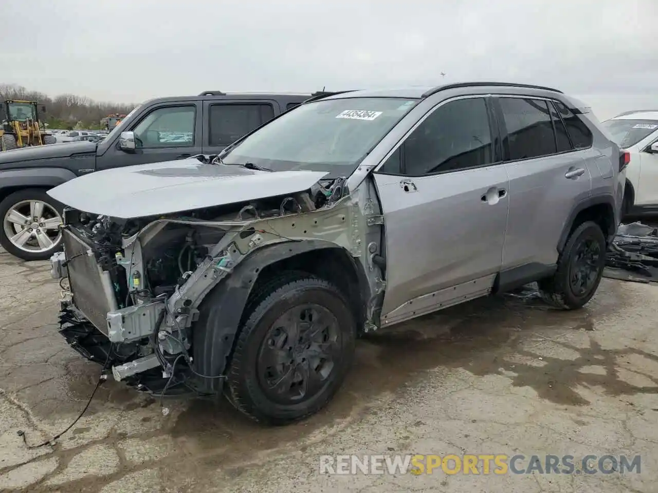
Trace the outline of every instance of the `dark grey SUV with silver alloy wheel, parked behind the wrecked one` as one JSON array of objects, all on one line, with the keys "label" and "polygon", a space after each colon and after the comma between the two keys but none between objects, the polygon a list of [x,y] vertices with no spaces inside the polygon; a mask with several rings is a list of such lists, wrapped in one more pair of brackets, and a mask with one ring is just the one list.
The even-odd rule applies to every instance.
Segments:
[{"label": "dark grey SUV with silver alloy wheel, parked behind the wrecked one", "polygon": [[282,112],[326,94],[205,91],[152,99],[132,110],[99,143],[66,142],[0,153],[0,245],[23,260],[45,260],[61,246],[62,222],[62,205],[45,193],[47,189],[108,168],[217,154]]}]

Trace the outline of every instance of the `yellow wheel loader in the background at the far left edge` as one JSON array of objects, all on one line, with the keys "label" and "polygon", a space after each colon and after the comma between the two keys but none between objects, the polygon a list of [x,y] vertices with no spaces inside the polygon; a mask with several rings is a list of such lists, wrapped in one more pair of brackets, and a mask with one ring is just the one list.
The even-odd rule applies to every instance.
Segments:
[{"label": "yellow wheel loader in the background at the far left edge", "polygon": [[55,143],[55,137],[39,122],[39,110],[45,112],[45,106],[35,101],[8,100],[2,104],[0,151]]}]

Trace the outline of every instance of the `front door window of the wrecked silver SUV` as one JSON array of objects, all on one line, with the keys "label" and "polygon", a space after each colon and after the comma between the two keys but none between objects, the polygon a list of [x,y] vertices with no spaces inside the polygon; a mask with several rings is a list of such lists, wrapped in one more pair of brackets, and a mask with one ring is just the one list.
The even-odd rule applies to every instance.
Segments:
[{"label": "front door window of the wrecked silver SUV", "polygon": [[457,99],[430,114],[388,158],[380,172],[422,176],[492,162],[491,130],[484,99]]}]

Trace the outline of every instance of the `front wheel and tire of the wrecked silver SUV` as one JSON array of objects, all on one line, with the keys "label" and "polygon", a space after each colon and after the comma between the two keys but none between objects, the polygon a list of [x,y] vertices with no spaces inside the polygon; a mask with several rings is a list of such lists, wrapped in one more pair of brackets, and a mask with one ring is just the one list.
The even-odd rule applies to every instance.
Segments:
[{"label": "front wheel and tire of the wrecked silver SUV", "polygon": [[[305,308],[309,305],[311,308]],[[291,327],[274,327],[288,313],[294,314],[293,319],[303,326],[309,324],[309,332],[300,330],[295,336]],[[324,323],[313,325],[309,315],[315,316],[316,321],[324,316],[322,321],[327,327],[323,327]],[[298,421],[323,408],[351,367],[357,332],[349,302],[338,288],[305,273],[281,276],[252,297],[243,320],[226,372],[224,394],[229,402],[251,419],[270,425]],[[310,331],[315,330],[320,332],[307,340]],[[272,349],[273,344],[283,344],[282,349]],[[316,353],[320,344],[333,348],[331,362]],[[266,365],[266,355],[284,357],[286,362]],[[315,390],[298,382],[304,373],[307,378],[302,381],[306,385],[313,382],[311,375],[318,378]],[[274,381],[282,382],[280,392],[267,388]],[[304,388],[308,394],[292,395],[301,394]]]}]

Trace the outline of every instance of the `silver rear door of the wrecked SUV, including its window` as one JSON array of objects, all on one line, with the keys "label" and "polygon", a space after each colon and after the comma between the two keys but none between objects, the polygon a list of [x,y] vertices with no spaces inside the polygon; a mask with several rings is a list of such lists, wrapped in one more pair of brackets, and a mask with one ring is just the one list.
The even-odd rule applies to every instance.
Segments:
[{"label": "silver rear door of the wrecked SUV, including its window", "polygon": [[495,101],[509,176],[505,283],[536,278],[557,262],[563,227],[574,205],[590,196],[592,179],[584,145],[574,146],[552,101],[511,95]]}]

